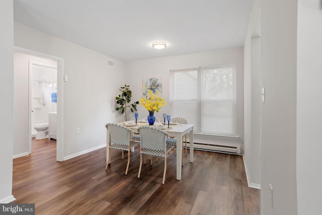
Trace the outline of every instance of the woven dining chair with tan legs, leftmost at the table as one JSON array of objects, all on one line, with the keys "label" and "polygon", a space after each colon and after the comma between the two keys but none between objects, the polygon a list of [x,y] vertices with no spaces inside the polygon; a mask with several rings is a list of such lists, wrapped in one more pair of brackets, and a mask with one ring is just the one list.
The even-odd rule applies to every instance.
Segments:
[{"label": "woven dining chair with tan legs, leftmost at the table", "polygon": [[107,167],[110,163],[111,149],[122,150],[122,159],[124,159],[124,151],[127,151],[127,166],[125,170],[125,175],[127,175],[127,171],[130,165],[130,149],[135,147],[136,145],[139,145],[140,142],[130,139],[130,134],[134,132],[128,127],[116,123],[107,123],[105,127],[109,129],[110,148],[105,170],[107,170]]}]

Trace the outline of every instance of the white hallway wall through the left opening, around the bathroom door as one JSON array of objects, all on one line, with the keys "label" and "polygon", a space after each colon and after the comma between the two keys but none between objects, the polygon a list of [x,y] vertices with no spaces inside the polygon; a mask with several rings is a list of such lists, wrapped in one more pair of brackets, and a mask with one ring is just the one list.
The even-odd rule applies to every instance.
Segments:
[{"label": "white hallway wall through the left opening, around the bathroom door", "polygon": [[14,147],[15,157],[28,154],[29,61],[52,66],[57,62],[19,52],[14,53]]}]

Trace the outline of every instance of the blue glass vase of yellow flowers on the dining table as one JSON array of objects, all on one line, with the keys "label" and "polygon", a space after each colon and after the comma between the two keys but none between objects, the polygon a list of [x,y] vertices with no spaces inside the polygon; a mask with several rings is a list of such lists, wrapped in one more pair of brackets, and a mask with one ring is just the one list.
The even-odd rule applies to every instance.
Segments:
[{"label": "blue glass vase of yellow flowers on the dining table", "polygon": [[147,121],[149,125],[153,125],[155,122],[154,112],[158,112],[163,105],[167,105],[164,98],[160,98],[158,92],[153,93],[147,90],[148,95],[140,99],[141,105],[149,112]]}]

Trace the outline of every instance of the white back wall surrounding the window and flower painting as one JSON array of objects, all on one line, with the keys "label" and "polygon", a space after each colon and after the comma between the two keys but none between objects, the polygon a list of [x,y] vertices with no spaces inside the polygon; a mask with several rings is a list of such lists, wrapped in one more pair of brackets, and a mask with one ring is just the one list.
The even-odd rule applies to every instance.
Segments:
[{"label": "white back wall surrounding the window and flower painting", "polygon": [[[162,50],[160,50],[162,51]],[[145,78],[162,78],[163,81],[163,97],[166,102],[169,101],[169,70],[178,68],[191,68],[202,65],[216,65],[236,63],[237,78],[237,134],[240,139],[244,139],[244,58],[243,48],[231,48],[223,50],[215,50],[209,52],[201,52],[194,54],[176,55],[169,57],[159,57],[145,60],[137,60],[126,62],[126,78],[125,83],[132,90],[132,99],[139,100],[142,97],[142,80]],[[138,105],[139,118],[148,115],[148,112]],[[162,113],[169,113],[169,105],[164,106],[162,110],[155,113],[158,118],[162,119]],[[134,119],[134,114],[129,114],[129,119]],[[202,136],[195,135],[195,141],[201,139]],[[206,141],[220,141],[222,144],[229,145],[231,142],[241,145],[243,141],[240,139],[222,138],[211,136]]]}]

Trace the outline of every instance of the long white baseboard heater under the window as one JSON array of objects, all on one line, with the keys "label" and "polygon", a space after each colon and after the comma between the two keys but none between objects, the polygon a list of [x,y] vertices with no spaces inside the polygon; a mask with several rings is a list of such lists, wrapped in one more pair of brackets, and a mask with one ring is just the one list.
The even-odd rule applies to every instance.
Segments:
[{"label": "long white baseboard heater under the window", "polygon": [[[187,148],[189,148],[189,143],[187,142]],[[218,152],[218,153],[229,153],[240,155],[240,146],[219,146],[213,144],[200,144],[194,142],[193,148],[195,150],[208,151],[208,152]]]}]

